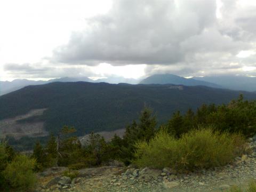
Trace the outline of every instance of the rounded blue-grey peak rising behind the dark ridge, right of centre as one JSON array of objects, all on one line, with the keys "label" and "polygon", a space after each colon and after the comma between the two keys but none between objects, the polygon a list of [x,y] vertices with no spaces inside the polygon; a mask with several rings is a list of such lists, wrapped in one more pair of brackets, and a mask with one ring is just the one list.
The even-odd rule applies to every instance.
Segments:
[{"label": "rounded blue-grey peak rising behind the dark ridge, right of centre", "polygon": [[152,75],[143,79],[140,83],[141,84],[175,84],[175,85],[186,85],[186,86],[203,85],[203,86],[221,88],[220,85],[217,85],[214,83],[198,81],[193,78],[185,78],[185,77],[180,77],[172,74]]}]

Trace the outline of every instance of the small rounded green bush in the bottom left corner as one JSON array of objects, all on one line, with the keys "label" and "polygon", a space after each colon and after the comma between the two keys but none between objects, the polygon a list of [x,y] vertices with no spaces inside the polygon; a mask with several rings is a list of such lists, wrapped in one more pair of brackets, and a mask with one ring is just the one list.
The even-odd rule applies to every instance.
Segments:
[{"label": "small rounded green bush in the bottom left corner", "polygon": [[36,183],[34,167],[35,159],[30,159],[26,155],[18,155],[6,166],[3,175],[10,188],[15,191],[30,190]]}]

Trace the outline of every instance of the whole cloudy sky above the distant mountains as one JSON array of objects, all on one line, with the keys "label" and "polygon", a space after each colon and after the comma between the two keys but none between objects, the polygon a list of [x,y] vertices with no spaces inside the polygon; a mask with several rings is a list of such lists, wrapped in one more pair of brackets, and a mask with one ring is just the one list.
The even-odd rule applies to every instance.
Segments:
[{"label": "whole cloudy sky above the distant mountains", "polygon": [[0,1],[0,80],[256,76],[254,0]]}]

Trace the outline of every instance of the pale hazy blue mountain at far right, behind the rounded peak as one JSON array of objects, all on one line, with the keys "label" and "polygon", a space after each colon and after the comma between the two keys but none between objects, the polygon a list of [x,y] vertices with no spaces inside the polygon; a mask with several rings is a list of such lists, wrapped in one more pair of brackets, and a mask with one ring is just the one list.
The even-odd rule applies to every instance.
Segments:
[{"label": "pale hazy blue mountain at far right, behind the rounded peak", "polygon": [[256,77],[246,76],[206,76],[193,77],[196,80],[219,84],[227,89],[256,91]]}]

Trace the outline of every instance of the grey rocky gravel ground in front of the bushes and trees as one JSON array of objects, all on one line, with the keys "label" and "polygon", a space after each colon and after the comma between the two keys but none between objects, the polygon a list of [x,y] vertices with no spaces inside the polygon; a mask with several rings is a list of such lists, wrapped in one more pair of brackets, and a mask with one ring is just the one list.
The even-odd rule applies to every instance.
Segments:
[{"label": "grey rocky gravel ground in front of the bushes and trees", "polygon": [[252,139],[250,148],[250,155],[237,157],[225,167],[188,174],[178,174],[168,167],[135,169],[116,162],[113,166],[78,170],[71,180],[62,177],[67,168],[52,167],[38,174],[40,182],[35,191],[226,191],[256,179],[256,142]]}]

